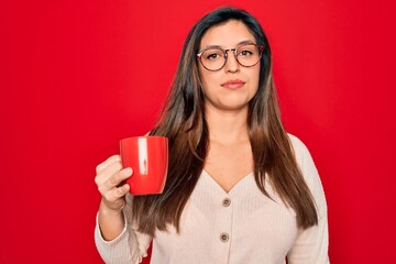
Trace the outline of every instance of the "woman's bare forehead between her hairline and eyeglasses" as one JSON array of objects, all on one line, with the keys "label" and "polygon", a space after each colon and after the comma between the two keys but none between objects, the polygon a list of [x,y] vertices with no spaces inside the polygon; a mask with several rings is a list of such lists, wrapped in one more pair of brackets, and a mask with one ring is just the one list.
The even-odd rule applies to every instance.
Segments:
[{"label": "woman's bare forehead between her hairline and eyeglasses", "polygon": [[209,45],[229,48],[244,41],[255,42],[255,37],[243,22],[230,20],[210,28],[201,38],[200,48]]}]

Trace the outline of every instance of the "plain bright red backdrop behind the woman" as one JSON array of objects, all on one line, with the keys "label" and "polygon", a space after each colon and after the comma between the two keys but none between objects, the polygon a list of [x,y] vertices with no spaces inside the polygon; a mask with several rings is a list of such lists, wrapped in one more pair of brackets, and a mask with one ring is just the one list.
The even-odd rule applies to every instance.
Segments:
[{"label": "plain bright red backdrop behind the woman", "polygon": [[331,262],[392,263],[392,2],[1,1],[0,263],[101,263],[95,167],[151,129],[188,30],[224,4],[270,37],[284,123],[324,186]]}]

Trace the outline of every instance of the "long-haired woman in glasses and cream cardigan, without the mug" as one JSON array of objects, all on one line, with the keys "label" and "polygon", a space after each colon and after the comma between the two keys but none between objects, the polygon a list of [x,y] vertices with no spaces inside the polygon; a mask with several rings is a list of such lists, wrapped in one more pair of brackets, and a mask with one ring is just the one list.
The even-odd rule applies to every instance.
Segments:
[{"label": "long-haired woman in glasses and cream cardigan, without the mug", "polygon": [[222,8],[189,32],[151,135],[169,140],[162,195],[129,194],[131,168],[97,167],[96,243],[107,263],[329,263],[327,206],[305,145],[285,132],[258,22]]}]

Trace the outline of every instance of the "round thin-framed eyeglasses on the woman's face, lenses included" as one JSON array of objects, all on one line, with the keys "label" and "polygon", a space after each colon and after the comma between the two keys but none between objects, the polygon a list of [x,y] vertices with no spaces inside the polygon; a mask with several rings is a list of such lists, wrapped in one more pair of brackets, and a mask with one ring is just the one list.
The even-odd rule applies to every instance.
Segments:
[{"label": "round thin-framed eyeglasses on the woman's face, lenses included", "polygon": [[237,62],[243,67],[252,67],[260,62],[264,46],[249,43],[237,48],[222,50],[220,47],[208,47],[197,54],[202,66],[211,72],[220,70],[227,63],[228,52],[235,55]]}]

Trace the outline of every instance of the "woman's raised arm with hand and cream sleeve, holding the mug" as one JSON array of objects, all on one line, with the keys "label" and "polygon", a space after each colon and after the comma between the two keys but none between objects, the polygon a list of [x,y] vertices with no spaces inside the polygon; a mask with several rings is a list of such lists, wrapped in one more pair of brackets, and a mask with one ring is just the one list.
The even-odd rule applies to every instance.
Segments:
[{"label": "woman's raised arm with hand and cream sleeve, holding the mug", "polygon": [[151,237],[139,233],[132,223],[132,200],[129,185],[122,182],[132,175],[122,169],[114,155],[97,167],[95,178],[102,199],[97,216],[95,242],[106,263],[140,263],[147,255]]}]

